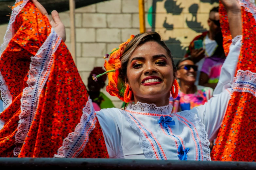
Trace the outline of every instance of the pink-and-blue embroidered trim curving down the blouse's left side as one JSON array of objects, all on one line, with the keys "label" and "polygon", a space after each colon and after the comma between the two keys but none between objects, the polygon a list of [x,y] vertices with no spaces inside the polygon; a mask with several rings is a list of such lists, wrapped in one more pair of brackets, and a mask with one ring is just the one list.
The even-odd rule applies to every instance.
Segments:
[{"label": "pink-and-blue embroidered trim curving down the blouse's left side", "polygon": [[[144,133],[145,137],[146,137],[147,140],[150,142],[150,144],[151,144],[151,146],[152,146],[152,149],[153,149],[154,152],[155,152],[156,159],[159,160],[157,151],[156,151],[156,149],[155,149],[155,147],[154,147],[154,144],[153,144],[152,140],[151,140],[150,138],[148,138],[146,132],[140,127],[140,125],[137,123],[137,121],[141,124],[141,126],[142,126],[143,128],[145,128],[145,127],[143,126],[143,124],[142,124],[139,120],[134,120],[130,115],[129,115],[129,117],[136,123],[136,125],[137,125],[137,126],[140,128],[140,130]],[[145,129],[146,129],[146,128],[145,128]],[[161,151],[162,151],[163,159],[164,159],[164,160],[167,160],[166,155],[165,155],[165,153],[164,153],[164,151],[163,151],[163,149],[162,149],[162,146],[160,145],[160,143],[159,143],[159,141],[157,140],[157,138],[153,135],[153,133],[152,133],[151,131],[149,131],[149,130],[147,130],[147,131],[150,133],[150,135],[151,135],[151,136],[155,139],[155,141],[157,142],[159,148],[160,148]]]}]

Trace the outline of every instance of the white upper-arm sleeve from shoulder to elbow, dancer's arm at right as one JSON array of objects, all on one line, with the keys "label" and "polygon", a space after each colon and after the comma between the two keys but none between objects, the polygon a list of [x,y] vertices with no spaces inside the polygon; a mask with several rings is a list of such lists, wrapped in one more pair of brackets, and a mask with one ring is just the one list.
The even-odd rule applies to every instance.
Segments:
[{"label": "white upper-arm sleeve from shoulder to elbow, dancer's arm at right", "polygon": [[217,137],[219,128],[224,118],[228,102],[230,100],[230,89],[215,95],[204,105],[194,107],[190,111],[196,113],[205,125],[208,140]]}]

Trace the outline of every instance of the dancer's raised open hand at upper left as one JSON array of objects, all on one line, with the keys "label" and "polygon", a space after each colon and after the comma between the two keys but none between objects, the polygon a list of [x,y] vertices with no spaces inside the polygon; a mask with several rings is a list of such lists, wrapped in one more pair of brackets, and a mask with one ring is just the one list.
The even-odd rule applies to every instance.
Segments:
[{"label": "dancer's raised open hand at upper left", "polygon": [[46,9],[41,5],[37,0],[32,0],[32,2],[35,4],[35,6],[39,9],[39,11],[45,15],[48,20],[50,21],[50,24],[54,31],[62,38],[62,40],[66,41],[66,30],[64,24],[60,20],[59,13],[54,10],[52,11],[52,18],[51,19],[46,11]]}]

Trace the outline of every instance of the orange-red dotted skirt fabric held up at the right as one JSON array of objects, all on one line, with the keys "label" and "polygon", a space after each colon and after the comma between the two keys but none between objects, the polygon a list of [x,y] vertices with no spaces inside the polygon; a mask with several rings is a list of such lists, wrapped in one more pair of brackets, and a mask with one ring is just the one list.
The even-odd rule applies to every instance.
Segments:
[{"label": "orange-red dotted skirt fabric held up at the right", "polygon": [[[247,1],[240,1],[240,4],[242,5],[243,39],[236,71],[249,70],[255,73],[256,22],[253,14],[247,10],[249,3]],[[225,9],[221,5],[220,11],[222,10]],[[224,23],[228,25],[227,21]],[[228,31],[226,29],[228,27],[222,29],[224,34]],[[246,86],[244,85],[244,87]],[[232,92],[216,143],[211,152],[213,161],[256,161],[255,104],[256,98],[252,93],[245,91]]]}]

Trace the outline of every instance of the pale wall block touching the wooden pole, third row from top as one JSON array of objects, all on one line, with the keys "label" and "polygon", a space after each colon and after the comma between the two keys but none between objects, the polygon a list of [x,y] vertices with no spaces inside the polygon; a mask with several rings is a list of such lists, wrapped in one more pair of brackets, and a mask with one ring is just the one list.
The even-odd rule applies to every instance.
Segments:
[{"label": "pale wall block touching the wooden pole, third row from top", "polygon": [[77,42],[95,42],[95,29],[94,28],[77,28],[76,39]]}]

